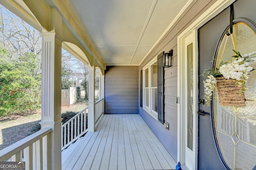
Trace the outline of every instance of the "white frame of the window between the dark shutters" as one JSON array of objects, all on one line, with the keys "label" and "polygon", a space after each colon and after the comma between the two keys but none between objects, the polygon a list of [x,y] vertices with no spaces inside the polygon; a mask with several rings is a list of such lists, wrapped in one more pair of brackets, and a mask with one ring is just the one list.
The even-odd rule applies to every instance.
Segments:
[{"label": "white frame of the window between the dark shutters", "polygon": [[[158,120],[158,113],[154,110],[152,110],[152,99],[151,99],[151,91],[152,89],[157,89],[157,87],[151,87],[151,75],[152,75],[152,70],[151,70],[151,65],[157,62],[157,56],[154,57],[148,64],[146,64],[143,69],[142,69],[142,74],[143,74],[143,83],[142,83],[142,103],[143,103],[143,109],[150,114],[154,119]],[[148,69],[148,107],[145,105],[145,70]]]}]

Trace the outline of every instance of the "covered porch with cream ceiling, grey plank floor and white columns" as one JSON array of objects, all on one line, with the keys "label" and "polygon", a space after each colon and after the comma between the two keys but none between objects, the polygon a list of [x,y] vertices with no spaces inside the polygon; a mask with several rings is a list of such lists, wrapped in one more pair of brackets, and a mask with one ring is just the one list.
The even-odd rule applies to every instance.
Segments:
[{"label": "covered porch with cream ceiling, grey plank floor and white columns", "polygon": [[[198,29],[234,1],[1,2],[42,35],[42,129],[1,150],[0,161],[25,161],[28,170],[174,169],[178,161],[188,169],[224,167],[211,117],[197,112],[204,105],[198,102]],[[193,47],[191,68],[187,44]],[[89,66],[88,108],[67,126],[61,125],[62,48]],[[100,102],[94,96],[96,68],[101,70]],[[194,118],[188,120],[190,74]],[[200,142],[206,156],[201,157],[199,129],[206,132]]]}]

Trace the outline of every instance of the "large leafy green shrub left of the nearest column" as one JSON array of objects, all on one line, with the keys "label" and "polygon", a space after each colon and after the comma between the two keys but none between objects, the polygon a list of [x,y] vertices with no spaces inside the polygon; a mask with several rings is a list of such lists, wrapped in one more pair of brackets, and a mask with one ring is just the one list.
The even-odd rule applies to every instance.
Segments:
[{"label": "large leafy green shrub left of the nearest column", "polygon": [[0,52],[0,116],[40,108],[41,74],[38,55],[26,53],[20,61]]}]

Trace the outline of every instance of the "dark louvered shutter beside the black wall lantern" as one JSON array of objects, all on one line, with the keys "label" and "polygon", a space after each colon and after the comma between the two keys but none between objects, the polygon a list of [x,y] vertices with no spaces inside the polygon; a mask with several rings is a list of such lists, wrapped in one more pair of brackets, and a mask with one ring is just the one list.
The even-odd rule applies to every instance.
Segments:
[{"label": "dark louvered shutter beside the black wall lantern", "polygon": [[158,121],[164,124],[164,68],[162,55],[157,57]]}]

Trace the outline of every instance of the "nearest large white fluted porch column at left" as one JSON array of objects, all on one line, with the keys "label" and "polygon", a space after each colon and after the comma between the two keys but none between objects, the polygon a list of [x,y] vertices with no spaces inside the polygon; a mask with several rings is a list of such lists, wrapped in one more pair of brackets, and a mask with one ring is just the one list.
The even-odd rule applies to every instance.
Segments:
[{"label": "nearest large white fluted porch column at left", "polygon": [[[52,128],[50,169],[61,170],[61,49],[56,33],[42,33],[42,128]],[[45,167],[44,167],[45,168]]]}]

